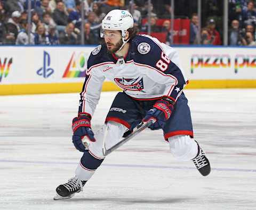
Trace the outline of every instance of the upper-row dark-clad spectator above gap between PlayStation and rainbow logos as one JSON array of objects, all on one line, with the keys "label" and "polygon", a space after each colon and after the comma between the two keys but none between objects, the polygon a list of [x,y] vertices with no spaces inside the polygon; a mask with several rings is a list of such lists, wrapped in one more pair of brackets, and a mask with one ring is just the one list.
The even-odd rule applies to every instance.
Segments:
[{"label": "upper-row dark-clad spectator above gap between PlayStation and rainbow logos", "polygon": [[[65,10],[64,6],[65,5],[63,2],[58,2],[56,9],[52,13],[52,18],[54,22],[58,26],[63,26],[63,27],[67,26],[68,24],[68,15],[64,11]],[[58,26],[57,26],[57,29],[58,29]],[[63,30],[65,30],[65,28]]]}]

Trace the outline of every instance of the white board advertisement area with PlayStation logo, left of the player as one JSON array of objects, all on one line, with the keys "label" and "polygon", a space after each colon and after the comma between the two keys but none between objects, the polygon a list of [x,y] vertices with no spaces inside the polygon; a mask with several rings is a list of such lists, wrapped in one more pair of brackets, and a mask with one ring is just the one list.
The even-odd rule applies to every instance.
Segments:
[{"label": "white board advertisement area with PlayStation logo, left of the player", "polygon": [[0,85],[83,82],[87,57],[93,49],[5,47],[0,55]]}]

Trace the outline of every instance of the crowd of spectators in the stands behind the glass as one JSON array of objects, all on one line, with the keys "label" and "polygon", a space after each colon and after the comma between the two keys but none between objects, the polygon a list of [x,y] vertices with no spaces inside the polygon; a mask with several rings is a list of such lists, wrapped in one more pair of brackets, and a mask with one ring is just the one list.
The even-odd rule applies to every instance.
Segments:
[{"label": "crowd of spectators in the stands behind the glass", "polygon": [[[31,25],[28,24],[28,0],[0,0],[1,45],[98,45],[101,21],[113,9],[129,10],[140,33],[165,33],[171,45],[170,0],[31,0]],[[223,43],[223,1],[205,0],[202,6],[202,27],[199,29],[197,1],[175,1],[175,19],[190,19],[190,45],[221,45]],[[256,1],[229,0],[228,44],[256,46]],[[186,9],[187,8],[187,9]],[[149,21],[148,11],[151,12]],[[158,19],[164,19],[159,26]],[[30,28],[30,38],[28,36]]]}]

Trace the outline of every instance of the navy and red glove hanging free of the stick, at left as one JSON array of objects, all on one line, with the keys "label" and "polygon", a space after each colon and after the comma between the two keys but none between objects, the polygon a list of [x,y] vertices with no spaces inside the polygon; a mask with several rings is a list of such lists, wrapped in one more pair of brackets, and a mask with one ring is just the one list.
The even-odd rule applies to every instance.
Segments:
[{"label": "navy and red glove hanging free of the stick, at left", "polygon": [[72,129],[73,144],[80,152],[85,152],[83,138],[88,138],[90,141],[95,142],[94,133],[91,129],[91,115],[85,112],[79,113],[78,117],[73,119]]}]

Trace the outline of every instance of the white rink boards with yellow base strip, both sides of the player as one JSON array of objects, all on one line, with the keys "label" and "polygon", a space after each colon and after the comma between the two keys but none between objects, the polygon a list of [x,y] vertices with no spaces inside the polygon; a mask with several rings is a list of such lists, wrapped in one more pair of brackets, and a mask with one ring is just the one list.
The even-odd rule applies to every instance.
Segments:
[{"label": "white rink boards with yellow base strip, both sides of the player", "polygon": [[[1,46],[0,95],[75,93],[95,46]],[[256,88],[255,47],[175,47],[186,88]],[[103,91],[119,90],[105,81]]]}]

